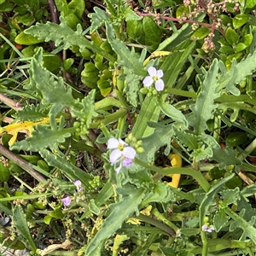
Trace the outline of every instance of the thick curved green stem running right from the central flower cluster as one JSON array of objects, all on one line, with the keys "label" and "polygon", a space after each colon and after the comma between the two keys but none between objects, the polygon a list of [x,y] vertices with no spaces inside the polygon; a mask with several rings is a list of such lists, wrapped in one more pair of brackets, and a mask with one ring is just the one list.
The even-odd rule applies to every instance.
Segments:
[{"label": "thick curved green stem running right from the central flower cluster", "polygon": [[206,192],[211,188],[211,185],[207,182],[207,179],[201,174],[201,172],[195,171],[194,169],[184,168],[184,167],[170,167],[170,168],[160,168],[157,166],[149,166],[142,160],[135,159],[135,163],[143,166],[151,171],[159,172],[160,174],[167,176],[169,174],[184,174],[195,178],[195,180],[201,185],[201,188]]}]

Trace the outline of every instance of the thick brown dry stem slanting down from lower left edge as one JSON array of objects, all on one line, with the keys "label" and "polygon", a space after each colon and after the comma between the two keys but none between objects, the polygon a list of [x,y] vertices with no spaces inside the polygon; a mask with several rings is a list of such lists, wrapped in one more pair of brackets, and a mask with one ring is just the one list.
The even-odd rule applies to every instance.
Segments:
[{"label": "thick brown dry stem slanting down from lower left edge", "polygon": [[23,170],[25,170],[32,177],[38,180],[38,182],[45,181],[45,178],[36,170],[34,170],[32,167],[30,167],[26,160],[23,160],[22,158],[20,158],[19,156],[11,152],[9,149],[3,147],[3,145],[1,144],[0,144],[0,154],[3,154],[9,160],[12,160],[17,166],[20,166]]}]

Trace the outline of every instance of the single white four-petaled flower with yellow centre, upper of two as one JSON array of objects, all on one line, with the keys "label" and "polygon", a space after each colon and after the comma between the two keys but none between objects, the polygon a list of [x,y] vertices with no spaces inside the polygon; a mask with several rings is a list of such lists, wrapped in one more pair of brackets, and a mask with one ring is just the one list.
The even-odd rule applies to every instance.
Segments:
[{"label": "single white four-petaled flower with yellow centre, upper of two", "polygon": [[165,84],[161,79],[164,75],[163,71],[161,69],[156,70],[155,67],[148,67],[148,74],[149,76],[143,79],[143,85],[149,87],[154,83],[156,90],[164,90]]}]

